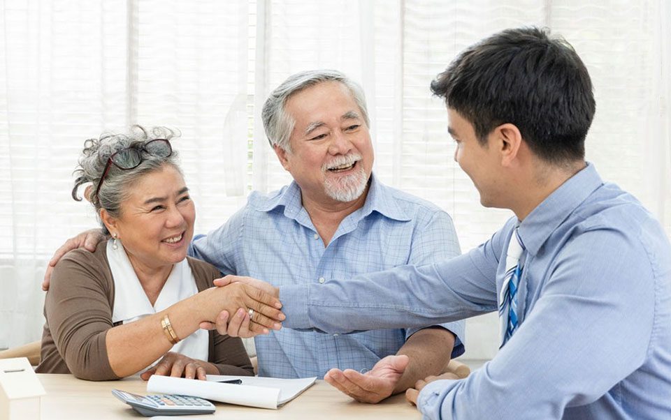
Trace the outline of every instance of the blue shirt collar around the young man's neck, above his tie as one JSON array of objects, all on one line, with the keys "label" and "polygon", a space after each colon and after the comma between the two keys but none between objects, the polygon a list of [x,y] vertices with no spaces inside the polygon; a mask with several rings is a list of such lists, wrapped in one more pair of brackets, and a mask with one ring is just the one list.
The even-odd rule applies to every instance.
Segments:
[{"label": "blue shirt collar around the young man's neck, above his tie", "polygon": [[535,255],[570,213],[602,185],[594,165],[587,163],[583,170],[554,190],[519,225],[519,236],[526,250]]}]

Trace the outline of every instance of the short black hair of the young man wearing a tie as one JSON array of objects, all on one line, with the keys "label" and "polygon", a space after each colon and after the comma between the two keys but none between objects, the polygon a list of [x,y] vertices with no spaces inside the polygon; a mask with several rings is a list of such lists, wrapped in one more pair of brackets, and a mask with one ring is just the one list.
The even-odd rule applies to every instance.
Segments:
[{"label": "short black hair of the young man wearing a tie", "polygon": [[533,153],[550,163],[583,159],[596,103],[573,47],[547,29],[507,29],[468,47],[431,82],[475,128],[481,144],[512,123]]}]

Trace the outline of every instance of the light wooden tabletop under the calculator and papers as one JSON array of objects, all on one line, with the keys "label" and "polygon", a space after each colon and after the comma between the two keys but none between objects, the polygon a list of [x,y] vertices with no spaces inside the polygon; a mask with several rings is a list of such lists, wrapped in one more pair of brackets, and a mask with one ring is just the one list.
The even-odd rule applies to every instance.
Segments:
[{"label": "light wooden tabletop under the calculator and papers", "polygon": [[[72,375],[38,375],[47,395],[42,397],[42,420],[146,419],[117,400],[112,389],[145,395],[147,382],[138,377],[120,381],[89,382]],[[277,410],[215,403],[215,414],[185,416],[190,419],[419,419],[421,414],[403,394],[380,404],[356,403],[322,380]]]}]

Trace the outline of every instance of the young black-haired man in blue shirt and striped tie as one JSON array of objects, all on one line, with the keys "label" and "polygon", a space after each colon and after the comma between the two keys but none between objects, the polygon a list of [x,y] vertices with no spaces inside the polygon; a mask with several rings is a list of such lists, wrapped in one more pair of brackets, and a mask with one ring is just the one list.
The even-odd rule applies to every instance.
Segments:
[{"label": "young black-haired man in blue shirt and striped tie", "polygon": [[498,310],[492,361],[407,391],[427,417],[671,418],[671,246],[584,160],[595,102],[575,51],[539,29],[503,31],[431,89],[482,204],[515,217],[452,260],[283,285],[284,326],[346,333]]}]

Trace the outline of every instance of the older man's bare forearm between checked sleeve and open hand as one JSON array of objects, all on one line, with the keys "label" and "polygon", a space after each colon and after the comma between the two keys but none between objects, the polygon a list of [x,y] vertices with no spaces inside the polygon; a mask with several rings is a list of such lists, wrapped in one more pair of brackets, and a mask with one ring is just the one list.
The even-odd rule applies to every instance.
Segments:
[{"label": "older man's bare forearm between checked sleeve and open hand", "polygon": [[410,358],[394,393],[413,387],[415,382],[430,375],[439,375],[452,357],[454,334],[447,329],[425,328],[412,334],[396,354]]}]

